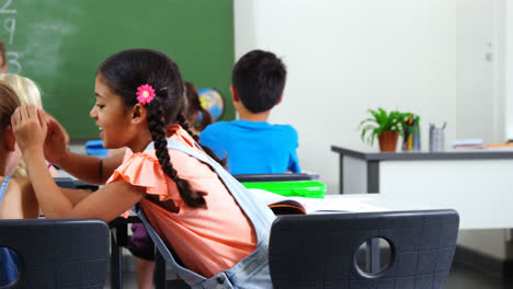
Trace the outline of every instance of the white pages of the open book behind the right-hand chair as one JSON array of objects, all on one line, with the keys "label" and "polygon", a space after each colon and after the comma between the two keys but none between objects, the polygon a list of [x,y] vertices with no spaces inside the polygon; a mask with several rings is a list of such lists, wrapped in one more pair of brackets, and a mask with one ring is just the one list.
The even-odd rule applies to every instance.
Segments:
[{"label": "white pages of the open book behind the right-hand chair", "polygon": [[272,192],[260,189],[260,188],[250,188],[249,189],[253,196],[265,204],[266,206],[274,203],[278,203],[284,199],[293,199],[300,203],[307,213],[330,213],[330,212],[363,212],[363,211],[383,211],[383,208],[366,204],[365,198],[360,199],[349,199],[349,198],[304,198],[304,197],[285,197]]}]

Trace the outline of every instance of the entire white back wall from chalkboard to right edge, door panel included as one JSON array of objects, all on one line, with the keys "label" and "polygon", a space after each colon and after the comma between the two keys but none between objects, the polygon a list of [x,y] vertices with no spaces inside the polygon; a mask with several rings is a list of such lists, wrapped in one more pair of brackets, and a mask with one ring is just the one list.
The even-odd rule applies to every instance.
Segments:
[{"label": "entire white back wall from chalkboard to right edge, door panel included", "polygon": [[[288,67],[285,99],[271,122],[298,130],[301,166],[319,173],[329,194],[339,192],[339,160],[330,146],[377,151],[357,131],[368,108],[419,114],[423,149],[429,123],[447,122],[446,148],[456,138],[513,138],[513,90],[508,85],[513,83],[513,60],[504,53],[513,47],[504,36],[513,30],[513,7],[504,0],[233,4],[236,58],[253,48],[283,58]],[[503,258],[503,230],[468,231],[458,244]]]}]

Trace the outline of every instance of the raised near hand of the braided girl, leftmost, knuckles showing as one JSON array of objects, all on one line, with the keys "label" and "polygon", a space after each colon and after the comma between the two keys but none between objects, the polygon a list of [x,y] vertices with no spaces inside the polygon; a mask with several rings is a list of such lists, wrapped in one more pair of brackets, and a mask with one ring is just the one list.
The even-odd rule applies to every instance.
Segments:
[{"label": "raised near hand of the braided girl, leftmost, knuckles showing", "polygon": [[43,109],[35,105],[18,107],[11,117],[11,126],[23,154],[34,150],[43,152],[47,131],[46,116]]}]

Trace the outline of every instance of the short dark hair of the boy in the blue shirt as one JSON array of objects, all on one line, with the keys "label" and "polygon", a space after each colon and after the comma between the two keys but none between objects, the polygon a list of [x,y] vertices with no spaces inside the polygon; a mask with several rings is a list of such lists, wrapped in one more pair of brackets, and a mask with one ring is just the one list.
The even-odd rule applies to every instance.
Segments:
[{"label": "short dark hair of the boy in the blue shirt", "polygon": [[252,113],[262,113],[280,101],[286,77],[286,67],[276,55],[256,49],[237,61],[231,82],[244,107]]}]

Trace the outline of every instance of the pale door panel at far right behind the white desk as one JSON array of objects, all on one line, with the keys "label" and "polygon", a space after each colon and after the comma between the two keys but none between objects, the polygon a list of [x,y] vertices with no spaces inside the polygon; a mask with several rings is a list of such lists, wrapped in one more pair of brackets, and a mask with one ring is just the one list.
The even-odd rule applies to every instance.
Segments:
[{"label": "pale door panel at far right behind the white desk", "polygon": [[[504,119],[502,90],[495,88],[501,61],[498,35],[504,23],[499,21],[502,0],[456,1],[456,138],[482,138],[502,142],[499,127]],[[503,97],[503,96],[502,96]],[[503,100],[503,99],[502,99]],[[502,113],[501,113],[502,112]],[[451,124],[449,124],[451,125]]]}]

